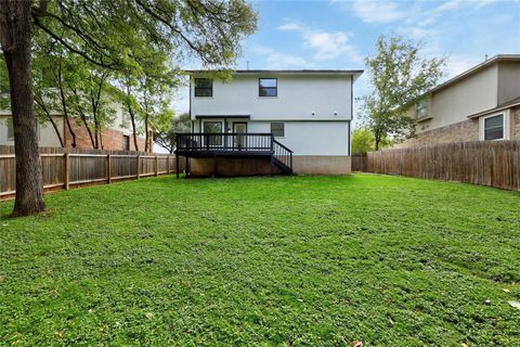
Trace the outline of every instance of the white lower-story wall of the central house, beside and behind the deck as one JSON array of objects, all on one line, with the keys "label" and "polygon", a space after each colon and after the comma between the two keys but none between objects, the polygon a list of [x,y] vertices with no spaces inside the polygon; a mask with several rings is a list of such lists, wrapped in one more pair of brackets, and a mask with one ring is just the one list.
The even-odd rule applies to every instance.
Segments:
[{"label": "white lower-story wall of the central house, beside and behind the deck", "polygon": [[[224,119],[207,120],[223,123]],[[247,121],[248,132],[271,132],[271,121],[227,119],[231,131],[233,121]],[[286,120],[284,124],[285,136],[275,139],[289,147],[294,155],[349,155],[349,121]],[[199,121],[196,120],[194,132],[199,131]]]}]

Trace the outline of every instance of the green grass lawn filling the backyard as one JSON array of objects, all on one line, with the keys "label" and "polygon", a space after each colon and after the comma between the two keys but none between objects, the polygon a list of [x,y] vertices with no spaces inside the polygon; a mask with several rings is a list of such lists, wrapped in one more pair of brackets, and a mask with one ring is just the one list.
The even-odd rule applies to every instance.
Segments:
[{"label": "green grass lawn filling the backyard", "polygon": [[519,193],[161,177],[47,202],[0,204],[2,346],[520,346]]}]

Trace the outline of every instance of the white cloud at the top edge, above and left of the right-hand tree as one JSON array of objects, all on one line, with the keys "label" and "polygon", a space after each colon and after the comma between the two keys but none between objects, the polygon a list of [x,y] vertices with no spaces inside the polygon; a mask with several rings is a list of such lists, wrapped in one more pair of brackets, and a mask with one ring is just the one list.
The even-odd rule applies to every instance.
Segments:
[{"label": "white cloud at the top edge, above and left of the right-hand tree", "polygon": [[352,4],[354,14],[365,23],[389,23],[404,17],[395,2],[356,0]]}]

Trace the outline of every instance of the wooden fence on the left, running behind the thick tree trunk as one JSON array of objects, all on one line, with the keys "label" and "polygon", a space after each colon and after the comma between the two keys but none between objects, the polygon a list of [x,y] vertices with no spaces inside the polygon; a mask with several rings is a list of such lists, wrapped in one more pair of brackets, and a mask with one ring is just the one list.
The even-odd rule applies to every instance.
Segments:
[{"label": "wooden fence on the left, running behind the thick tree trunk", "polygon": [[[134,151],[40,147],[46,190],[176,172],[176,156]],[[0,198],[16,192],[13,146],[0,145]]]}]

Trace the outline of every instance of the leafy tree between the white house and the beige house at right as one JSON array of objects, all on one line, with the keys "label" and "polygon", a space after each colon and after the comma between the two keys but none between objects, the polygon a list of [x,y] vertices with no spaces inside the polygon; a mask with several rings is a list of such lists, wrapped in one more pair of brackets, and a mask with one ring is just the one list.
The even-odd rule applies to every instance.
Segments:
[{"label": "leafy tree between the white house and the beige house at right", "polygon": [[373,87],[363,98],[365,124],[374,133],[376,151],[386,138],[400,141],[414,136],[415,119],[406,116],[406,106],[422,98],[442,77],[445,59],[420,57],[421,44],[380,36],[376,56],[365,59]]}]

